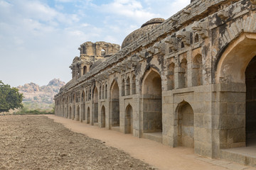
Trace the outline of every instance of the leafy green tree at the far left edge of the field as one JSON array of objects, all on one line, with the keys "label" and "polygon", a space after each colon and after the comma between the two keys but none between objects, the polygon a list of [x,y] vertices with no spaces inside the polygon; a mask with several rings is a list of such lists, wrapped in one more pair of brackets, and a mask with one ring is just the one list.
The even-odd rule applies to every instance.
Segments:
[{"label": "leafy green tree at the far left edge of the field", "polygon": [[23,94],[18,93],[18,89],[0,81],[0,113],[23,108],[22,99]]}]

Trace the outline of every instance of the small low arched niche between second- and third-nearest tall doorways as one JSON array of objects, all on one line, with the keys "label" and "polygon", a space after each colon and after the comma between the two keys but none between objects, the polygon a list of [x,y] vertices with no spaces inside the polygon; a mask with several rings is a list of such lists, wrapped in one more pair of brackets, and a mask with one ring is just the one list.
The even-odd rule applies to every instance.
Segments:
[{"label": "small low arched niche between second- and third-nearest tall doorways", "polygon": [[124,118],[124,132],[133,133],[133,115],[132,115],[132,106],[128,105],[125,109],[125,118]]}]

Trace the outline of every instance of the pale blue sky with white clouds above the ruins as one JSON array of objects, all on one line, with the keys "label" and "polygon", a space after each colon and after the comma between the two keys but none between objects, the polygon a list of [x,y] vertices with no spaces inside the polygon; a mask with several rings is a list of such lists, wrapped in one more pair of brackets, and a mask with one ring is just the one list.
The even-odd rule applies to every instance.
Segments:
[{"label": "pale blue sky with white clouds above the ruins", "polygon": [[0,80],[11,86],[67,83],[83,42],[122,45],[151,18],[170,18],[190,0],[0,0]]}]

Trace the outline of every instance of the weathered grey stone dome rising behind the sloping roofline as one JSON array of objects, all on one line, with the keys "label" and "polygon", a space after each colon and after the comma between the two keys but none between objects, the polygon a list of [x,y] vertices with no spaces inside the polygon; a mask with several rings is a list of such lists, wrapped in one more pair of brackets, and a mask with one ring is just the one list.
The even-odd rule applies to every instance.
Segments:
[{"label": "weathered grey stone dome rising behind the sloping roofline", "polygon": [[137,40],[138,38],[146,35],[146,33],[149,33],[150,30],[156,28],[160,23],[163,23],[163,18],[153,18],[146,23],[142,25],[141,28],[134,30],[132,33],[127,35],[126,38],[124,38],[124,41],[122,42],[122,48],[126,47],[130,43],[134,42],[134,40]]}]

